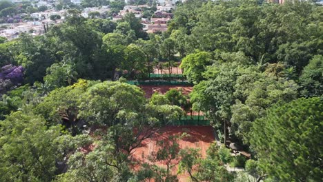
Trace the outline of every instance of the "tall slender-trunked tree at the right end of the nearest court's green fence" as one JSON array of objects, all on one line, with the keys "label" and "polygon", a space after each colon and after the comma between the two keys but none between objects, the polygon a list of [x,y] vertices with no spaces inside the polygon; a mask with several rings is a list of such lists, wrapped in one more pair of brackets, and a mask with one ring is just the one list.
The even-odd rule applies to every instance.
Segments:
[{"label": "tall slender-trunked tree at the right end of the nearest court's green fence", "polygon": [[224,143],[228,135],[227,126],[231,119],[231,105],[235,100],[235,81],[239,64],[215,64],[212,69],[218,70],[210,81],[202,81],[195,85],[191,95],[193,110],[202,110],[213,121],[213,126],[224,132]]}]

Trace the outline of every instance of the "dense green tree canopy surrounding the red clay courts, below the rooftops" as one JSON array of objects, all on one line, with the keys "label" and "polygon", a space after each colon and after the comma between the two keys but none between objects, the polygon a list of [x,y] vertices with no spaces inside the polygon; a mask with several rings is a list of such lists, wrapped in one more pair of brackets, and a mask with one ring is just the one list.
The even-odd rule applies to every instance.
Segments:
[{"label": "dense green tree canopy surrounding the red clay courts, below the rooftops", "polygon": [[[115,22],[68,10],[44,35],[1,40],[0,181],[171,182],[183,172],[191,181],[322,181],[323,7],[188,0],[173,14],[167,32],[147,34],[131,13]],[[177,66],[194,85],[188,96],[147,99],[128,84]],[[150,160],[179,161],[177,174],[134,163],[142,141],[190,108],[224,145],[202,157],[179,148],[184,136],[162,143]],[[228,139],[251,159],[233,159]]]}]

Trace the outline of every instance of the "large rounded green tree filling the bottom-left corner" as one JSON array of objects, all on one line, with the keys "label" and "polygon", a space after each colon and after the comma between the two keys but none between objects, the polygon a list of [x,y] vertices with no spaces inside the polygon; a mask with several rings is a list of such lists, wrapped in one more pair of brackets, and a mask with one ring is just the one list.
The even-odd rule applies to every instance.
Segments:
[{"label": "large rounded green tree filling the bottom-left corner", "polygon": [[59,126],[48,128],[32,113],[12,112],[0,123],[1,181],[50,181],[61,159]]}]

